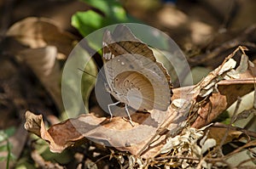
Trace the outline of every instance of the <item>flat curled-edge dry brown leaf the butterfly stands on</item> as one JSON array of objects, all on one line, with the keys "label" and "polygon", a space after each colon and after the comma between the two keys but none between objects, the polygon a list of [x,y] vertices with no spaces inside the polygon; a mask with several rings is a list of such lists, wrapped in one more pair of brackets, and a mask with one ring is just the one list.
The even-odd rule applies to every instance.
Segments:
[{"label": "flat curled-edge dry brown leaf the butterfly stands on", "polygon": [[[27,111],[25,127],[27,131],[36,133],[48,141],[49,149],[53,152],[61,152],[67,147],[78,144],[84,138],[88,138],[98,144],[137,155],[142,154],[148,148],[147,145],[151,144],[151,142],[148,144],[148,140],[159,138],[159,135],[155,136],[155,133],[163,121],[166,119],[176,121],[172,123],[171,129],[173,134],[177,134],[178,128],[183,127],[180,124],[186,119],[185,115],[179,114],[171,107],[166,112],[153,110],[150,114],[136,113],[131,115],[131,118],[136,125],[135,127],[132,127],[128,121],[124,121],[121,117],[113,117],[112,121],[108,121],[105,117],[98,118],[92,114],[80,115],[76,119],[69,119],[53,125],[46,131],[42,116],[33,115]],[[154,145],[155,148],[151,147],[147,153],[143,153],[143,156],[153,157],[160,150],[161,144]]]}]

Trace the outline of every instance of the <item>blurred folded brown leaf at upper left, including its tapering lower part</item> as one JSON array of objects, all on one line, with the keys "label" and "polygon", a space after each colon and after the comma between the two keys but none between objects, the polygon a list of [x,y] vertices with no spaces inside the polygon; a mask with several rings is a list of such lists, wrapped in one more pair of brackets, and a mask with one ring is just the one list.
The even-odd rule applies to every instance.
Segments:
[{"label": "blurred folded brown leaf at upper left, including its tapering lower part", "polygon": [[[54,20],[29,17],[16,22],[6,33],[8,52],[25,62],[43,83],[59,110],[61,101],[61,70],[55,61],[67,58],[76,37],[62,31]],[[29,48],[27,48],[29,47]]]}]

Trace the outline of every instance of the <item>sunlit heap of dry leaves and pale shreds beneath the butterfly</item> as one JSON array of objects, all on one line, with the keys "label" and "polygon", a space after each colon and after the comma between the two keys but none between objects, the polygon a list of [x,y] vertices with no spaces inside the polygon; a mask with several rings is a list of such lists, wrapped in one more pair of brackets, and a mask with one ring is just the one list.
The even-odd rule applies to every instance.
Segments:
[{"label": "sunlit heap of dry leaves and pale shreds beneath the butterfly", "polygon": [[[211,134],[212,138],[208,138],[206,128],[211,128],[211,125],[207,125],[238,97],[253,91],[254,65],[247,59],[245,50],[245,47],[236,48],[222,65],[210,72],[197,85],[174,89],[173,103],[166,112],[152,110],[149,114],[138,112],[131,115],[135,127],[131,127],[127,121],[122,121],[119,117],[113,117],[113,121],[108,121],[105,117],[89,114],[62,121],[47,130],[42,115],[34,115],[27,111],[26,130],[47,141],[49,149],[53,152],[60,153],[67,147],[83,144],[88,139],[97,144],[107,145],[110,149],[117,149],[113,151],[113,157],[119,154],[118,161],[122,166],[230,166],[231,164],[224,162],[225,156],[222,159],[218,158],[221,154],[216,151],[219,144],[216,139],[219,138],[214,138],[214,134]],[[238,51],[242,53],[241,64],[235,69],[236,61],[232,57]],[[236,89],[243,86],[247,90]],[[180,93],[186,94],[185,99],[179,98]],[[148,115],[149,121],[146,121]],[[202,128],[196,129],[200,127]],[[231,140],[234,138],[234,135],[230,136]],[[222,139],[221,142],[223,141]],[[197,144],[198,142],[200,144]],[[255,146],[250,141],[245,147],[246,145]],[[127,155],[125,152],[130,154],[127,156],[128,163],[124,161]]]}]

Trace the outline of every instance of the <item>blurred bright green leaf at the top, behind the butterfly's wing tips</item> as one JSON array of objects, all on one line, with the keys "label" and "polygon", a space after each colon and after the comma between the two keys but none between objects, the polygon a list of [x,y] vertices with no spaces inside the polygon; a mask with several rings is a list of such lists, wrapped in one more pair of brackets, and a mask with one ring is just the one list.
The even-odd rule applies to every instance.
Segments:
[{"label": "blurred bright green leaf at the top, behind the butterfly's wing tips", "polygon": [[122,7],[121,3],[115,0],[83,0],[83,2],[88,3],[90,6],[102,12],[102,14],[98,14],[93,10],[87,10],[73,14],[72,25],[77,28],[84,37],[106,25],[140,22],[126,14],[125,8]]}]

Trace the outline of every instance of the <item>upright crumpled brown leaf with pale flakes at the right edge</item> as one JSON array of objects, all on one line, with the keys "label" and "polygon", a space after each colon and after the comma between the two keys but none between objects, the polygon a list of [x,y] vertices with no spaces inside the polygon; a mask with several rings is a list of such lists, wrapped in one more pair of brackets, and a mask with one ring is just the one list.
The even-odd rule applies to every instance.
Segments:
[{"label": "upright crumpled brown leaf with pale flakes at the right edge", "polygon": [[[241,50],[242,52],[241,64],[236,70],[234,70],[239,70],[236,74],[238,78],[229,80],[219,79],[219,76],[225,76],[230,72],[234,73],[232,69],[222,69],[238,50]],[[196,114],[198,116],[194,121],[192,127],[200,128],[206,126],[218,115],[220,115],[224,110],[226,110],[231,104],[233,104],[236,101],[237,97],[241,97],[253,91],[254,76],[252,74],[252,70],[255,68],[254,65],[248,61],[246,54],[244,54],[244,50],[247,50],[247,48],[237,48],[224,60],[224,63],[222,65],[218,66],[216,70],[213,70],[209,74],[209,76],[207,76],[202,82],[195,86],[192,93],[195,93],[194,107],[198,107],[198,110],[194,111],[197,111]],[[220,74],[219,72],[223,73]],[[207,87],[209,86],[209,84],[211,84],[211,87],[213,88]],[[208,93],[206,92],[207,90],[209,91]],[[203,97],[201,95],[201,92],[203,92],[204,94]]]}]

